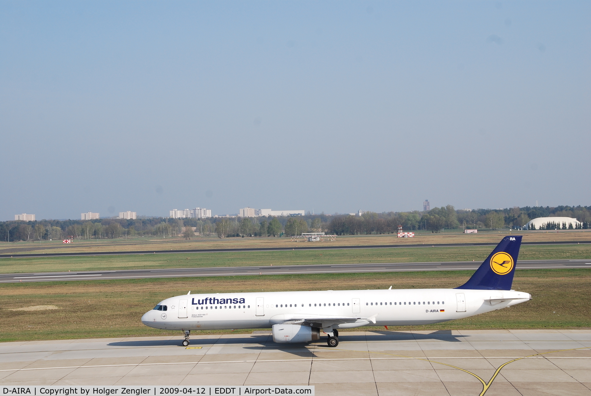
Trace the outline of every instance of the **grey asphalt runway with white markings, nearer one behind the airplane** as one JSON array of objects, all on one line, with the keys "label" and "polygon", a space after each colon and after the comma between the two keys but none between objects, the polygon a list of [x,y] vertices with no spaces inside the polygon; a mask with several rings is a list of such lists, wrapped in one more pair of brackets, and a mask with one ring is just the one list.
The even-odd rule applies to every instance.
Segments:
[{"label": "grey asphalt runway with white markings, nearer one behind the airplane", "polygon": [[[93,279],[187,278],[191,276],[285,275],[306,273],[473,271],[480,262],[366,263],[278,265],[213,268],[125,269],[115,271],[37,272],[0,274],[0,283],[88,281]],[[520,260],[516,269],[591,268],[587,260]]]}]

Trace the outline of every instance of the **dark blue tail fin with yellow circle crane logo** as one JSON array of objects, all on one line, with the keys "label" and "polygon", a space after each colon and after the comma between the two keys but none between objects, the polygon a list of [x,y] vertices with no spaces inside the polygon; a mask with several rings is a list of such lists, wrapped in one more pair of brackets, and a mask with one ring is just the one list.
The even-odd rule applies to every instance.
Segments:
[{"label": "dark blue tail fin with yellow circle crane logo", "polygon": [[456,289],[511,290],[520,246],[521,236],[504,237],[472,278]]}]

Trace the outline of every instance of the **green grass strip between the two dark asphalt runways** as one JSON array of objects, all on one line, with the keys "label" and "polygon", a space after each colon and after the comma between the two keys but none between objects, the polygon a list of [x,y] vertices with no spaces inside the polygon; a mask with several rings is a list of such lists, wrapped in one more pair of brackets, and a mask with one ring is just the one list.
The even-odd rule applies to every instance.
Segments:
[{"label": "green grass strip between the two dark asphalt runways", "polygon": [[[170,253],[158,255],[16,257],[0,259],[0,273],[108,271],[113,269],[216,266],[480,261],[491,246]],[[524,245],[521,260],[591,259],[591,245]]]}]

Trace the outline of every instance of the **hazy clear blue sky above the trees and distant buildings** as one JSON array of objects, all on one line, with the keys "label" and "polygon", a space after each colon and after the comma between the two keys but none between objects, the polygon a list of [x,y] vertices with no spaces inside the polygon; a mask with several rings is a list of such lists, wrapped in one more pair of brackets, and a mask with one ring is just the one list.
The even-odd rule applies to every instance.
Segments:
[{"label": "hazy clear blue sky above the trees and distant buildings", "polygon": [[589,2],[0,3],[0,219],[590,205]]}]

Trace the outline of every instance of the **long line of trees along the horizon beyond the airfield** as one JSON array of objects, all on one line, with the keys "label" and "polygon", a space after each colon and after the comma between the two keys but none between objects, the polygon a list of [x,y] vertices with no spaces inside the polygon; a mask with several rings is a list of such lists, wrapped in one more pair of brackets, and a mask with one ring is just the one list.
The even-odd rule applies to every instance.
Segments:
[{"label": "long line of trees along the horizon beyond the airfield", "polygon": [[[336,235],[392,234],[427,230],[521,227],[536,217],[573,217],[587,228],[591,207],[513,207],[505,209],[456,210],[452,205],[430,211],[366,212],[361,216],[343,214],[307,214],[294,217],[213,217],[206,219],[140,218],[137,220],[40,220],[0,222],[1,241],[113,239],[133,237],[281,237],[306,232]],[[566,226],[566,228],[564,228]],[[554,228],[551,228],[554,227]],[[195,230],[193,231],[193,228]],[[569,224],[545,224],[544,229],[569,229]],[[576,228],[573,224],[573,228]],[[189,231],[190,229],[190,231]]]}]

